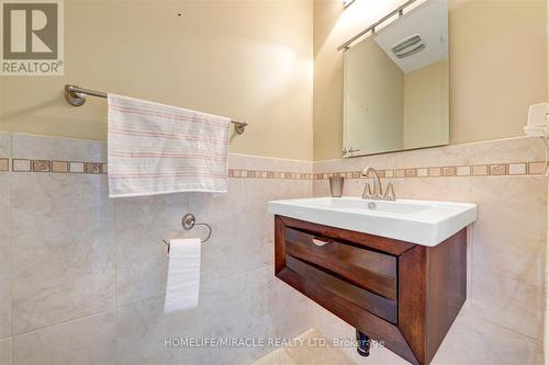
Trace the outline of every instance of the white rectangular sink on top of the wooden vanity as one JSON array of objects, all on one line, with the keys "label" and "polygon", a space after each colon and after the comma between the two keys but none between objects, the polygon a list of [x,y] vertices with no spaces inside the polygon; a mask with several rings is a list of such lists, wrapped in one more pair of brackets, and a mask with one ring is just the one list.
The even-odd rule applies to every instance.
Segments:
[{"label": "white rectangular sink on top of the wooden vanity", "polygon": [[345,196],[273,201],[268,206],[280,216],[428,247],[477,220],[477,205],[470,203]]}]

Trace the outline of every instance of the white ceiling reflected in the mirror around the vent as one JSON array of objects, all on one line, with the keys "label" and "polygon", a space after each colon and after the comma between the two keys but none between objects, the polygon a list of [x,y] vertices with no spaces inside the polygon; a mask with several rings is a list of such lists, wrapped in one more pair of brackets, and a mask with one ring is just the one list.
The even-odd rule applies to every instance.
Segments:
[{"label": "white ceiling reflected in the mirror around the vent", "polygon": [[[391,48],[415,34],[422,36],[425,49],[397,58]],[[448,3],[428,0],[381,28],[373,38],[404,73],[445,59],[448,57]]]}]

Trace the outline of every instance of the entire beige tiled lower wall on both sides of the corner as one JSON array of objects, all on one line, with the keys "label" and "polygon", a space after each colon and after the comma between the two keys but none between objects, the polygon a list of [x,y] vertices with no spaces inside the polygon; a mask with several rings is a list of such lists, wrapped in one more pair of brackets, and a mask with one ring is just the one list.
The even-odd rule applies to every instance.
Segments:
[{"label": "entire beige tiled lower wall on both sides of the corner", "polygon": [[[249,363],[271,349],[167,349],[163,341],[293,337],[311,327],[328,339],[352,338],[348,324],[273,277],[267,202],[327,195],[327,178],[336,173],[347,176],[345,194],[359,195],[366,166],[382,171],[383,182],[403,180],[395,186],[401,198],[479,204],[470,229],[469,300],[434,363],[542,360],[547,179],[540,140],[314,164],[232,155],[228,194],[114,201],[107,198],[105,175],[85,168],[87,161],[104,163],[104,145],[5,134],[0,141],[10,171],[18,159],[31,169],[32,161],[49,161],[52,170],[54,161],[81,163],[78,173],[0,172],[0,358],[7,364]],[[159,240],[179,230],[186,212],[210,223],[214,236],[202,251],[199,308],[166,316],[167,261]],[[345,350],[354,356],[352,347]],[[379,350],[360,362],[400,360]]]}]

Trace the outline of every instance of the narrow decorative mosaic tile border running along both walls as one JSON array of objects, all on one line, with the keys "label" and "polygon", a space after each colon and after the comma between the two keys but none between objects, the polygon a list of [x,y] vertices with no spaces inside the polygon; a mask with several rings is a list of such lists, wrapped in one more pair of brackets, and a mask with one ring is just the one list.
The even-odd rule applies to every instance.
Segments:
[{"label": "narrow decorative mosaic tile border running along both walls", "polygon": [[[49,172],[49,173],[85,173],[107,174],[107,163],[90,161],[27,160],[0,158],[0,172]],[[542,175],[545,162],[509,162],[471,166],[445,166],[378,170],[380,178],[416,179],[416,178],[461,178],[461,176],[517,176]],[[289,172],[269,170],[229,169],[228,178],[233,179],[279,179],[279,180],[327,180],[334,175],[346,179],[360,179],[361,171],[339,172]]]}]

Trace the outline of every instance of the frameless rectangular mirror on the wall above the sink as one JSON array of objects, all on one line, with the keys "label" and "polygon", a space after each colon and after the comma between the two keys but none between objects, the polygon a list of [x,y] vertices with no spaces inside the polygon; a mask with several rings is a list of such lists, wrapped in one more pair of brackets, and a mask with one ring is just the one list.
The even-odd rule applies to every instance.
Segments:
[{"label": "frameless rectangular mirror on the wall above the sink", "polygon": [[427,0],[344,54],[344,157],[449,142],[448,3]]}]

